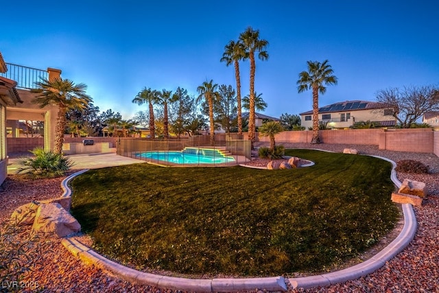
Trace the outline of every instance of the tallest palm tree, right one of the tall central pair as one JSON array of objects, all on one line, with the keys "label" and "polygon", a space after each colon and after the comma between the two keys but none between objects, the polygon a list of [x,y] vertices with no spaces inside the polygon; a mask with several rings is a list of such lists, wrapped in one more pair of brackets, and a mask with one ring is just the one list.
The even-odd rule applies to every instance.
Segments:
[{"label": "tallest palm tree, right one of the tall central pair", "polygon": [[252,27],[247,27],[247,30],[239,35],[239,40],[244,44],[244,48],[250,59],[250,110],[248,116],[248,139],[251,141],[251,148],[253,149],[256,125],[254,116],[254,73],[256,65],[254,63],[254,53],[258,53],[260,60],[267,60],[268,53],[265,48],[268,46],[268,40],[261,40],[259,38],[259,30],[253,30]]}]

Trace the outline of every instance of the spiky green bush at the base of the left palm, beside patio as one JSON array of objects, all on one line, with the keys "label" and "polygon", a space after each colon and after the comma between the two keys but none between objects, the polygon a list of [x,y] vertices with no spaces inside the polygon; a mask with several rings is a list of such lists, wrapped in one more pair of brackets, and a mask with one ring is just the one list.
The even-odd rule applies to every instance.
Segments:
[{"label": "spiky green bush at the base of the left palm, beside patio", "polygon": [[32,178],[55,178],[64,176],[73,163],[64,158],[62,154],[52,151],[45,151],[43,148],[34,148],[31,151],[32,158],[22,158],[19,160],[19,173],[27,174]]}]

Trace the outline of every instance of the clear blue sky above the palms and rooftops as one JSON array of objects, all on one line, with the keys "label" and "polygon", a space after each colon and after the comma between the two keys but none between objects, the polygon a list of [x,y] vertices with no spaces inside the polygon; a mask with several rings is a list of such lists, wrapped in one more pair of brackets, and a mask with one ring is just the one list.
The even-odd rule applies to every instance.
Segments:
[{"label": "clear blue sky above the palms and rooftops", "polygon": [[[19,1],[2,3],[0,51],[6,62],[62,70],[88,85],[95,106],[128,119],[143,89],[197,95],[206,79],[235,84],[224,45],[251,26],[268,40],[255,91],[266,115],[311,110],[298,93],[307,60],[329,60],[338,78],[320,106],[375,99],[389,87],[439,85],[439,3],[420,1]],[[241,62],[248,94],[249,62]]]}]

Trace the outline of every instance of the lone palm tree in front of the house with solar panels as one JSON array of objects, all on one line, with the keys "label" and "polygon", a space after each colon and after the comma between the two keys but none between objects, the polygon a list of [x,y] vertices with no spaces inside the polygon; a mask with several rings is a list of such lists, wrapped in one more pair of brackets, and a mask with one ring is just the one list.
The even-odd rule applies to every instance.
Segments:
[{"label": "lone palm tree in front of the house with solar panels", "polygon": [[307,63],[308,71],[299,73],[298,92],[313,90],[313,137],[311,143],[320,143],[320,137],[318,137],[318,93],[323,95],[327,91],[324,85],[337,84],[337,77],[333,75],[334,71],[328,64],[328,60],[324,60],[322,63],[318,61],[307,61]]}]

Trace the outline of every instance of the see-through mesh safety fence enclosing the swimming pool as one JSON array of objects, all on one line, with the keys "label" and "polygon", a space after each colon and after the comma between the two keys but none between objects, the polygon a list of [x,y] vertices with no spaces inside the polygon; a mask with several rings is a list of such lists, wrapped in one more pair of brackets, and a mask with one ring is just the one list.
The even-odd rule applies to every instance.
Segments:
[{"label": "see-through mesh safety fence enclosing the swimming pool", "polygon": [[[119,139],[117,154],[167,166],[232,166],[251,161],[250,141],[208,136],[189,139]],[[225,138],[225,137],[224,137]],[[169,159],[175,152],[177,158]],[[165,158],[165,159],[163,159]],[[189,159],[191,163],[188,163]],[[209,162],[207,162],[209,161]]]}]

